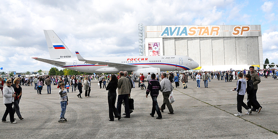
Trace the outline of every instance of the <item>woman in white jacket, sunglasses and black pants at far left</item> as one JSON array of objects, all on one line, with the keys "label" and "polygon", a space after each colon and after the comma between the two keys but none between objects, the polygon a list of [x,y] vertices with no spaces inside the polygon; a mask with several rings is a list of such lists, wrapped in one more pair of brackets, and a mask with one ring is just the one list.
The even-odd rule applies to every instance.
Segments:
[{"label": "woman in white jacket, sunglasses and black pants at far left", "polygon": [[11,79],[7,79],[6,86],[3,89],[3,101],[6,106],[6,111],[3,115],[2,122],[8,122],[6,120],[6,118],[9,114],[11,123],[15,124],[16,121],[14,119],[13,103],[14,103],[14,97],[16,96],[16,94],[14,94],[15,91],[14,91],[14,88],[11,87],[11,85],[12,85]]}]

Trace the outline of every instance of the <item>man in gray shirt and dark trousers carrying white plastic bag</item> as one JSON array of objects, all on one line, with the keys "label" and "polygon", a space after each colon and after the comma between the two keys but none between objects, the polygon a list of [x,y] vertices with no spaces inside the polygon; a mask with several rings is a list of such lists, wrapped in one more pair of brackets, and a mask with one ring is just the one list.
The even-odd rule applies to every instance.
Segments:
[{"label": "man in gray shirt and dark trousers carrying white plastic bag", "polygon": [[161,86],[161,92],[163,95],[163,104],[161,105],[161,107],[159,108],[161,110],[161,112],[163,112],[163,110],[165,110],[165,105],[168,107],[169,112],[168,114],[174,114],[174,110],[173,107],[169,101],[169,96],[171,94],[171,91],[173,91],[173,86],[170,82],[169,79],[167,79],[167,74],[163,73],[162,76],[162,81],[160,82],[160,86]]}]

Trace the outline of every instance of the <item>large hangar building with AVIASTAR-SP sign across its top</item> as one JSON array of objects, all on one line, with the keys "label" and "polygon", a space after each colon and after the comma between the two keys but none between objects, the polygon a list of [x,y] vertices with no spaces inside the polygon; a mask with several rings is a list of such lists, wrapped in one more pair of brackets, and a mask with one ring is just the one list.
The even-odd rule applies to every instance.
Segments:
[{"label": "large hangar building with AVIASTAR-SP sign across its top", "polygon": [[263,67],[260,25],[145,26],[145,56],[183,55],[196,70]]}]

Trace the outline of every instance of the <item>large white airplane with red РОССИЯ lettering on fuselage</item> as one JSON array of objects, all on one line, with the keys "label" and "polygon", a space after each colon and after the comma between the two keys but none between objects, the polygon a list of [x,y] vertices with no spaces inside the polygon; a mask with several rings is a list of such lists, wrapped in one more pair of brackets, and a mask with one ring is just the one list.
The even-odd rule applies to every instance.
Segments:
[{"label": "large white airplane with red \u0420\u041e\u0421\u0421\u0418\u042f lettering on fuselage", "polygon": [[[128,56],[128,57],[86,57],[78,51],[76,57],[53,30],[44,30],[51,60],[33,58],[62,68],[88,73],[119,73],[120,71],[140,73],[158,73],[161,71],[192,70],[199,64],[187,56]],[[145,76],[146,78],[147,76]]]}]

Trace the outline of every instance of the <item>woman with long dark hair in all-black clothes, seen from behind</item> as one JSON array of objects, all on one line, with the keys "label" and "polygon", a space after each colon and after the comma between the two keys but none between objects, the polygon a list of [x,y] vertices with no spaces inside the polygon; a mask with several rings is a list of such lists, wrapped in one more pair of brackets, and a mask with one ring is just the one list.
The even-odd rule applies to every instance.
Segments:
[{"label": "woman with long dark hair in all-black clothes, seen from behind", "polygon": [[118,78],[116,77],[116,75],[113,74],[111,75],[110,82],[106,87],[106,90],[108,90],[108,107],[109,107],[109,118],[110,118],[109,121],[114,121],[113,113],[115,117],[118,118],[118,120],[121,119],[121,115],[119,114],[119,112],[115,107],[116,97],[117,97],[117,93],[116,93],[117,86],[118,86]]}]

